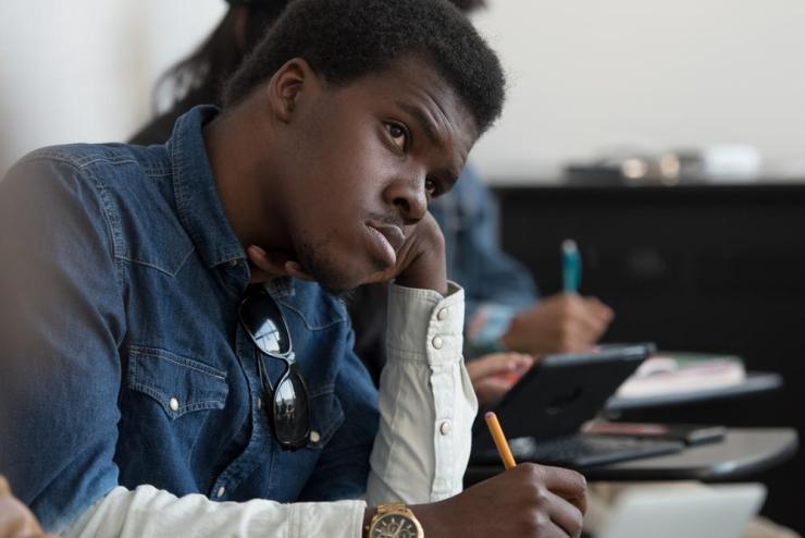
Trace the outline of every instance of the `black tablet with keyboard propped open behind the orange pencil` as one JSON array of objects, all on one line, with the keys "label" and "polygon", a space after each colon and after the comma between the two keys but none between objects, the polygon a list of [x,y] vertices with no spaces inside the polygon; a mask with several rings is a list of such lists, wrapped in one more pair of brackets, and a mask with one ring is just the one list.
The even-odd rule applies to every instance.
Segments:
[{"label": "black tablet with keyboard propped open behind the orange pencil", "polygon": [[[654,351],[651,343],[611,344],[538,360],[491,409],[515,458],[582,469],[682,450],[681,441],[580,432]],[[473,426],[471,463],[500,463],[482,418]]]}]

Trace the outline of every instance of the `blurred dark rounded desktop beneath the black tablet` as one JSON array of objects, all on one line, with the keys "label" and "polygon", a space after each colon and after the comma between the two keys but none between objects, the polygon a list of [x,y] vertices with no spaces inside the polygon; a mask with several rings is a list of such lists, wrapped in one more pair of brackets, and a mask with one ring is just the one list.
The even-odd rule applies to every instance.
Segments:
[{"label": "blurred dark rounded desktop beneath the black tablet", "polygon": [[[723,441],[684,449],[677,454],[581,469],[589,480],[732,480],[778,465],[796,453],[793,428],[730,428]],[[503,470],[503,465],[470,465],[470,486]]]}]

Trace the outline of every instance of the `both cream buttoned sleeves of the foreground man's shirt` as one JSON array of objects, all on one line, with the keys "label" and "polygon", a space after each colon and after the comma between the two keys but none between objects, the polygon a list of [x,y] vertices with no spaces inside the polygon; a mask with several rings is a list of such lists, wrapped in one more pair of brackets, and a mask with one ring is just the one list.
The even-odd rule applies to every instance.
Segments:
[{"label": "both cream buttoned sleeves of the foreground man's shirt", "polygon": [[[450,284],[443,297],[392,284],[389,294],[388,363],[367,485],[370,505],[436,501],[461,491],[478,407],[461,358],[463,291]],[[360,538],[366,506],[362,500],[215,502],[148,485],[117,487],[64,536]]]}]

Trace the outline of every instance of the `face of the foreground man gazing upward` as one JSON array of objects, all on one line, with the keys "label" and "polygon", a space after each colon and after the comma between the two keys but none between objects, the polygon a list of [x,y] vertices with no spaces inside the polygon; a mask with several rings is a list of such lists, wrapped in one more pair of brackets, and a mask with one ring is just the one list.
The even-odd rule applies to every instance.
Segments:
[{"label": "face of the foreground man gazing upward", "polygon": [[285,220],[302,268],[333,291],[395,264],[403,227],[453,187],[478,137],[458,96],[417,60],[317,86],[295,114]]}]

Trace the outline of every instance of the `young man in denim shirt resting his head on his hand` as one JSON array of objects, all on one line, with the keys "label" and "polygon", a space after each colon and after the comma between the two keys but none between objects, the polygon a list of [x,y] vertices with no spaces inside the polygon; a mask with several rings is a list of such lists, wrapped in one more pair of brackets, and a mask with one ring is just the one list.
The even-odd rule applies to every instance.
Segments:
[{"label": "young man in denim shirt resting his head on his hand", "polygon": [[[69,536],[578,536],[572,472],[460,492],[475,401],[426,204],[501,107],[469,22],[299,0],[226,95],[164,146],[48,148],[0,183],[21,499]],[[389,279],[377,395],[331,292]]]}]

